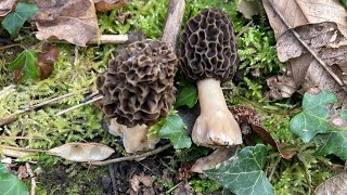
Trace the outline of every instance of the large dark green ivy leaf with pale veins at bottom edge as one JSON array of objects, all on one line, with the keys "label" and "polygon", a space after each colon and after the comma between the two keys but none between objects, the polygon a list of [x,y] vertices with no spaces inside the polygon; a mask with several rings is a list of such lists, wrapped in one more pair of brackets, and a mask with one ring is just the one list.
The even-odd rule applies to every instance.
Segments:
[{"label": "large dark green ivy leaf with pale veins at bottom edge", "polygon": [[273,194],[273,187],[262,171],[266,157],[264,144],[247,146],[236,157],[204,172],[237,195]]}]

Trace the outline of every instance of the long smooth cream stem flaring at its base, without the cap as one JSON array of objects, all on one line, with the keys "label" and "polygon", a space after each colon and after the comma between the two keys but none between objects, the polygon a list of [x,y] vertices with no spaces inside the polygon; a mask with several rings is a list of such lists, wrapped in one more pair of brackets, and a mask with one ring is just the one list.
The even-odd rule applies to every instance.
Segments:
[{"label": "long smooth cream stem flaring at its base, without the cap", "polygon": [[242,144],[240,126],[228,109],[220,81],[204,79],[197,89],[201,115],[193,128],[193,142],[211,147]]}]

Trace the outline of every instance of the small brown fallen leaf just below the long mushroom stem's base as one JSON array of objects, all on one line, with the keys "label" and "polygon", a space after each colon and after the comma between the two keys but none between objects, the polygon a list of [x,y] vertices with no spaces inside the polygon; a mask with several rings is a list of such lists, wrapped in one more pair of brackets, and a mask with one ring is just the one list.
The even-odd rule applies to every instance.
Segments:
[{"label": "small brown fallen leaf just below the long mushroom stem's base", "polygon": [[236,147],[232,148],[217,148],[213,154],[198,158],[192,166],[191,171],[203,173],[205,170],[215,168],[218,164],[221,164],[230,159],[235,155]]}]

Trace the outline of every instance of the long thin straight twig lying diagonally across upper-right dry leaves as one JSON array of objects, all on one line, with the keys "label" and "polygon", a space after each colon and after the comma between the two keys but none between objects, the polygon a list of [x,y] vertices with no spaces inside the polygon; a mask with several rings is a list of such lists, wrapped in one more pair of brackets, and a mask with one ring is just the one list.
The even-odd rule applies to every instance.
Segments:
[{"label": "long thin straight twig lying diagonally across upper-right dry leaves", "polygon": [[334,80],[339,84],[340,88],[343,88],[345,91],[347,91],[347,88],[345,83],[339,79],[339,77],[322,61],[314,51],[311,50],[311,48],[303,41],[299,34],[295,31],[295,29],[285,21],[281,12],[278,10],[278,8],[274,5],[272,0],[268,0],[269,4],[271,5],[272,10],[275,12],[275,14],[281,18],[281,21],[284,23],[284,25],[287,27],[287,29],[294,35],[294,37],[303,44],[303,47],[318,61],[318,63],[323,66],[323,68],[334,78]]}]

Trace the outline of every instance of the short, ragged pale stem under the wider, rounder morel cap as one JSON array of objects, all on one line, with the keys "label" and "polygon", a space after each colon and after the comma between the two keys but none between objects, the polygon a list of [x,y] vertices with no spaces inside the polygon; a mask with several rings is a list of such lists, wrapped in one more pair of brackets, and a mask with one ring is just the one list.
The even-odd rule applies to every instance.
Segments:
[{"label": "short, ragged pale stem under the wider, rounder morel cap", "polygon": [[111,119],[110,133],[123,138],[123,144],[127,153],[154,150],[159,139],[147,138],[149,127],[145,125],[128,128],[119,125],[115,118]]}]

